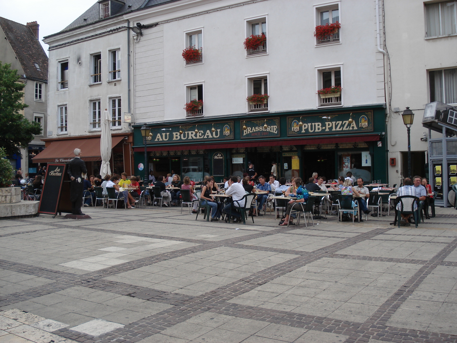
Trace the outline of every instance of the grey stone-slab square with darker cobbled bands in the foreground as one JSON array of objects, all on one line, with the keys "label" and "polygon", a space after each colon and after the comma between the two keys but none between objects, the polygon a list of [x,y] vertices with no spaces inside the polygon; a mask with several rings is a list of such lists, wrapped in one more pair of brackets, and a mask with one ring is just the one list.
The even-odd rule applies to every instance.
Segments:
[{"label": "grey stone-slab square with darker cobbled bands in the foreground", "polygon": [[457,343],[457,211],[416,229],[85,208],[0,221],[0,342]]}]

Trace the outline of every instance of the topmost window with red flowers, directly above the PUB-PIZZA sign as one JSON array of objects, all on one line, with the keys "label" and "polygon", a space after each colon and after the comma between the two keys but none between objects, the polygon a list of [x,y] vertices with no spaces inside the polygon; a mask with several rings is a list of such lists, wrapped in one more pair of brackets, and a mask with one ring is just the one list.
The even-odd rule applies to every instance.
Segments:
[{"label": "topmost window with red flowers, directly above the PUB-PIZZA sign", "polygon": [[[338,3],[316,7],[316,44],[340,42],[339,26],[340,6]],[[328,32],[333,33],[328,34]]]}]

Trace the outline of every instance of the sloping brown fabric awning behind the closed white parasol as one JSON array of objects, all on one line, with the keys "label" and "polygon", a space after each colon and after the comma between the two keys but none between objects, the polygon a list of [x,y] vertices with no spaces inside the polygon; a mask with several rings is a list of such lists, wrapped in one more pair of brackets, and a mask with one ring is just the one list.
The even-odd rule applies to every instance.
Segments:
[{"label": "sloping brown fabric awning behind the closed white parasol", "polygon": [[[114,148],[124,136],[112,137]],[[34,163],[66,163],[74,158],[74,149],[81,149],[81,158],[84,161],[101,161],[100,137],[88,139],[56,140],[46,149],[32,158]]]}]

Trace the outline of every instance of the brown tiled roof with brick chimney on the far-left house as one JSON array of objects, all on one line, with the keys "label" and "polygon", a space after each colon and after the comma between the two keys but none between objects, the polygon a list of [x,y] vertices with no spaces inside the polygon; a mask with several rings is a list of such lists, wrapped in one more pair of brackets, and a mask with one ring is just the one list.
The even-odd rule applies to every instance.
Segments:
[{"label": "brown tiled roof with brick chimney on the far-left house", "polygon": [[48,56],[32,30],[26,25],[3,17],[0,17],[0,26],[21,63],[26,77],[47,81]]}]

